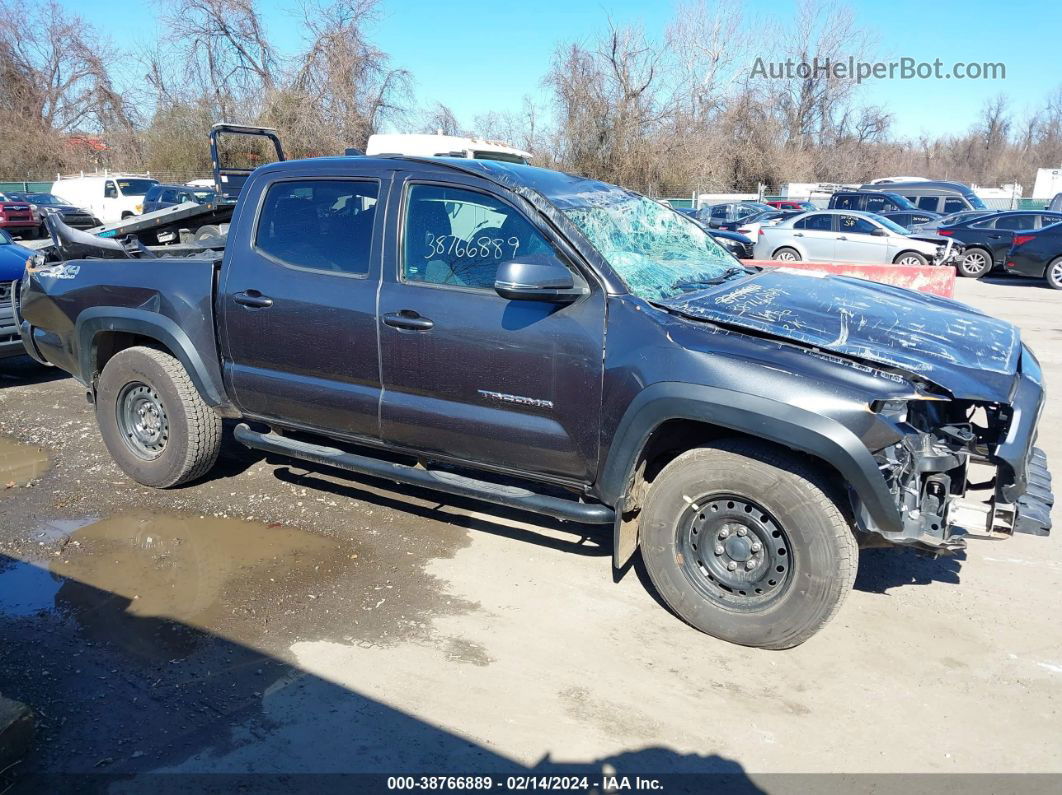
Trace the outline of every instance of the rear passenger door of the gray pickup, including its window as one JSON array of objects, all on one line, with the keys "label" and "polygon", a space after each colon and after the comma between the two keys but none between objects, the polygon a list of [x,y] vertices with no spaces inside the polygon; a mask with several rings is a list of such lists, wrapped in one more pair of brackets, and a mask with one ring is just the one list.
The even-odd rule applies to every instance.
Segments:
[{"label": "rear passenger door of the gray pickup, including its window", "polygon": [[244,413],[379,438],[377,204],[387,185],[273,183],[246,242],[226,252],[225,376]]}]

